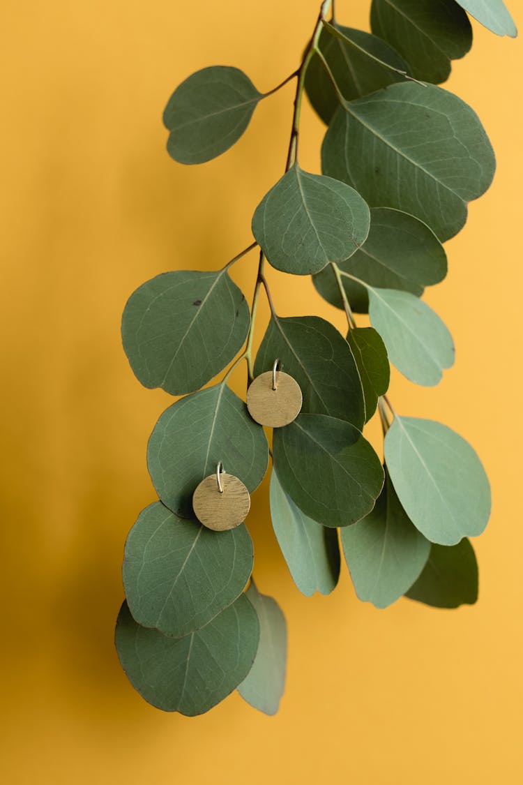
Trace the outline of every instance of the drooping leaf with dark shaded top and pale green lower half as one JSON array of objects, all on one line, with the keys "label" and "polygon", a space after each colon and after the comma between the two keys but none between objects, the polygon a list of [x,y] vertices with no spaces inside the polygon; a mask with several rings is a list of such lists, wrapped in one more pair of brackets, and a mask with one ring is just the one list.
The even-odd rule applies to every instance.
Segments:
[{"label": "drooping leaf with dark shaded top and pale green lower half", "polygon": [[412,586],[430,552],[388,479],[372,512],[341,530],[341,542],[358,597],[376,608],[387,608]]}]

